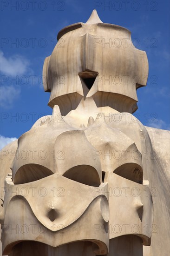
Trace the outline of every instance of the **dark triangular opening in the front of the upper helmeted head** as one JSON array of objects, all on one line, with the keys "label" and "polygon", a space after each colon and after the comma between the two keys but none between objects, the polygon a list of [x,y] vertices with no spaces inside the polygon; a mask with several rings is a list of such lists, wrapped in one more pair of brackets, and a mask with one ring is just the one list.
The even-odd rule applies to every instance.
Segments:
[{"label": "dark triangular opening in the front of the upper helmeted head", "polygon": [[83,72],[78,73],[79,77],[84,81],[86,87],[90,90],[98,76],[98,72],[85,70]]}]

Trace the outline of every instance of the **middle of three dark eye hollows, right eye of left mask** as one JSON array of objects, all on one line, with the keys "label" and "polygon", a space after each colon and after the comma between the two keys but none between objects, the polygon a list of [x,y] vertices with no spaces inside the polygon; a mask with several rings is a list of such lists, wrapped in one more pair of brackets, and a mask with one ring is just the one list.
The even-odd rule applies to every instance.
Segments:
[{"label": "middle of three dark eye hollows, right eye of left mask", "polygon": [[75,166],[63,175],[64,177],[83,183],[85,185],[98,187],[100,185],[100,178],[97,170],[90,165],[78,165]]}]

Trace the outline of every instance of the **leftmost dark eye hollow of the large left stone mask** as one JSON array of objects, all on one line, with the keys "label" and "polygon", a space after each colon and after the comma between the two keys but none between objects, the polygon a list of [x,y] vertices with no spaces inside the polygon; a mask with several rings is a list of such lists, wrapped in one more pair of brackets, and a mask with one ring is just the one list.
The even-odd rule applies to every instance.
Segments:
[{"label": "leftmost dark eye hollow of the large left stone mask", "polygon": [[23,184],[27,182],[33,182],[52,175],[53,172],[48,168],[39,164],[25,164],[16,172],[13,183]]}]

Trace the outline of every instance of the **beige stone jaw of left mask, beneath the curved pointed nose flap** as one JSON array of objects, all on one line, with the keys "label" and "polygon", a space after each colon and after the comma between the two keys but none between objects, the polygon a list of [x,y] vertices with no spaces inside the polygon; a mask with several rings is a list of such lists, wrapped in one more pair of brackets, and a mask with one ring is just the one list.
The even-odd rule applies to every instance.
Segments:
[{"label": "beige stone jaw of left mask, beneath the curved pointed nose flap", "polygon": [[[12,222],[14,227],[19,228],[19,231],[12,230],[10,226],[9,228],[4,228],[4,234],[2,236],[4,253],[10,253],[13,245],[20,241],[29,240],[46,243],[52,247],[58,247],[75,241],[92,241],[97,245],[95,247],[97,255],[106,254],[109,245],[109,236],[107,233],[103,234],[102,229],[97,234],[94,234],[93,226],[94,224],[103,226],[105,223],[103,219],[103,216],[105,217],[105,209],[104,213],[101,211],[103,205],[105,208],[105,203],[101,202],[101,200],[102,198],[99,197],[97,200],[93,200],[81,218],[68,227],[64,227],[64,223],[58,222],[57,225],[54,225],[52,222],[51,226],[53,229],[55,227],[62,229],[51,231],[38,221],[26,200],[23,200],[21,197],[13,197],[8,205],[6,218],[8,223]],[[15,218],[11,216],[11,210],[13,210],[13,215],[16,216]],[[21,212],[20,216],[17,216],[18,212]],[[92,214],[93,212],[96,214]],[[17,226],[18,223],[20,223],[19,226]]]}]

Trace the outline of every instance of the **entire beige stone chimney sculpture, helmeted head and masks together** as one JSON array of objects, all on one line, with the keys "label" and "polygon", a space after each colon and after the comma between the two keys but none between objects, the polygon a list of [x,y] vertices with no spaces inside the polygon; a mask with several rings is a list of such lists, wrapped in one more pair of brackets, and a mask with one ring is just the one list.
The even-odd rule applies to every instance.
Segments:
[{"label": "entire beige stone chimney sculpture, helmeted head and masks together", "polygon": [[1,152],[3,255],[169,255],[168,131],[132,115],[146,53],[94,10],[59,32],[43,77],[52,115]]}]

